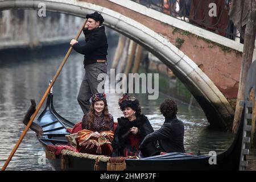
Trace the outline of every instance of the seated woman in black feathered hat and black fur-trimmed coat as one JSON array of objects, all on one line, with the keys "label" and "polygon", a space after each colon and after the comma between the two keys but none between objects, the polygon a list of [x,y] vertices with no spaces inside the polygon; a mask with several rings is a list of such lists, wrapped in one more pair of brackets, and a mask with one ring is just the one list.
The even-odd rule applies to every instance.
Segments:
[{"label": "seated woman in black feathered hat and black fur-trimmed coat", "polygon": [[[154,132],[154,129],[147,117],[141,114],[141,106],[139,106],[137,98],[123,95],[118,104],[124,117],[117,119],[113,156],[139,156],[139,144],[147,134]],[[156,148],[151,148],[151,144],[144,148],[146,150],[143,152],[143,156],[155,155]]]}]

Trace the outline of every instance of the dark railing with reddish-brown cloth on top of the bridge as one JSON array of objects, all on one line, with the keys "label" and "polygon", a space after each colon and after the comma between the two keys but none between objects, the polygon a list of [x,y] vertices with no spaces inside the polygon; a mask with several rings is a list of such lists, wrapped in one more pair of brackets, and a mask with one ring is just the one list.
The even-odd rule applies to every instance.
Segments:
[{"label": "dark railing with reddish-brown cloth on top of the bridge", "polygon": [[226,38],[240,39],[228,12],[231,0],[131,0]]}]

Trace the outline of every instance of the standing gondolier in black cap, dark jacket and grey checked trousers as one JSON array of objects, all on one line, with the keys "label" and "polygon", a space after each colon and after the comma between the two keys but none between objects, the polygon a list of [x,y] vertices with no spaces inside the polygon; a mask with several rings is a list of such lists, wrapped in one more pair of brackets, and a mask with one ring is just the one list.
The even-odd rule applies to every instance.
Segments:
[{"label": "standing gondolier in black cap, dark jacket and grey checked trousers", "polygon": [[[72,39],[70,44],[75,51],[84,55],[85,76],[82,80],[77,101],[84,114],[90,110],[90,98],[98,93],[97,80],[100,73],[107,74],[108,40],[105,33],[105,27],[102,26],[104,18],[101,14],[94,12],[86,15],[87,22],[84,27],[85,44]],[[104,90],[104,88],[102,88]]]}]

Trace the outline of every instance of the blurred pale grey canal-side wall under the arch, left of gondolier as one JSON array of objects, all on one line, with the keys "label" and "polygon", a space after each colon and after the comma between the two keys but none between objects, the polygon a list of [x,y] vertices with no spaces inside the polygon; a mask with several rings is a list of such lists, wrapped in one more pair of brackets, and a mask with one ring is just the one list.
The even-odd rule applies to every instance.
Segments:
[{"label": "blurred pale grey canal-side wall under the arch, left of gondolier", "polygon": [[[67,44],[84,20],[68,14],[47,12],[47,18],[36,16],[37,10],[0,11],[0,51]],[[69,28],[69,27],[75,28]]]}]

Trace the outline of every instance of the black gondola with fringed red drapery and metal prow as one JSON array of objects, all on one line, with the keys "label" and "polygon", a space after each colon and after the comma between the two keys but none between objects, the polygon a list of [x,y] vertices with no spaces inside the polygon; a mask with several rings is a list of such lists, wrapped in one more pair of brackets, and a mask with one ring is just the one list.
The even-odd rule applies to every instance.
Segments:
[{"label": "black gondola with fringed red drapery and metal prow", "polygon": [[[253,114],[253,102],[251,96],[256,90],[256,61],[251,64],[247,74],[245,101],[240,101],[243,107],[240,126],[234,137],[232,145],[228,150],[216,156],[191,155],[179,152],[171,152],[164,155],[157,155],[148,158],[126,158],[122,163],[113,163],[113,158],[102,155],[82,154],[76,151],[62,150],[59,155],[48,151],[48,146],[67,146],[68,141],[65,135],[69,135],[68,128],[75,126],[74,123],[61,117],[53,107],[52,91],[48,94],[46,107],[39,115],[38,120],[32,123],[30,129],[36,132],[40,144],[42,144],[46,156],[55,170],[113,170],[125,169],[126,171],[168,171],[168,170],[244,170],[247,166],[246,155],[249,149],[251,126],[249,121]],[[255,93],[254,93],[255,96]],[[35,102],[28,109],[23,119],[26,125],[35,111]],[[121,167],[118,167],[122,164]]]}]

